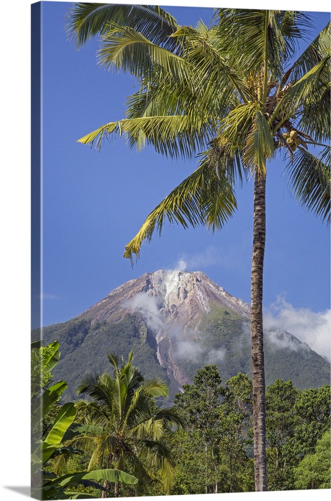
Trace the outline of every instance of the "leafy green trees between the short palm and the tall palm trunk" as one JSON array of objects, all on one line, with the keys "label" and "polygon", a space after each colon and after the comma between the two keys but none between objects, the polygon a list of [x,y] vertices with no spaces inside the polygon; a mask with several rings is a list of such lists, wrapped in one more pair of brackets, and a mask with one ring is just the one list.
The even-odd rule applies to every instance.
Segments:
[{"label": "leafy green trees between the short palm and the tall palm trunk", "polygon": [[180,444],[175,442],[172,449],[177,459],[173,493],[253,490],[253,464],[246,454],[251,441],[250,379],[238,374],[222,385],[217,367],[206,366],[183,389],[175,397],[186,427],[177,432]]}]

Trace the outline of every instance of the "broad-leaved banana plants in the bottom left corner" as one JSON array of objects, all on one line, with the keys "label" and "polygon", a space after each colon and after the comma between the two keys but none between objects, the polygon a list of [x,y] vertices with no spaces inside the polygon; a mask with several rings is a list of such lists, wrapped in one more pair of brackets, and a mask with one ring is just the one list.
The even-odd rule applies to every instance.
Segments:
[{"label": "broad-leaved banana plants in the bottom left corner", "polygon": [[[134,484],[137,478],[120,470],[94,470],[56,475],[49,471],[48,466],[55,457],[72,456],[81,451],[67,447],[63,443],[64,435],[72,425],[76,416],[76,409],[72,402],[67,402],[60,407],[46,436],[42,438],[41,424],[46,415],[49,414],[52,405],[57,402],[66,389],[64,381],[50,386],[50,371],[55,367],[60,358],[59,343],[54,342],[46,347],[42,347],[40,342],[32,344],[32,398],[31,398],[31,418],[32,418],[32,454],[31,454],[31,496],[37,499],[72,499],[79,497],[95,497],[86,492],[80,494],[77,490],[68,490],[77,484],[83,486],[93,486],[94,488],[105,490],[97,483],[100,479],[107,479],[111,482],[125,482]],[[40,370],[40,378],[37,372]],[[42,382],[45,382],[45,387]],[[40,386],[39,386],[40,385]],[[36,431],[40,435],[35,437]]]}]

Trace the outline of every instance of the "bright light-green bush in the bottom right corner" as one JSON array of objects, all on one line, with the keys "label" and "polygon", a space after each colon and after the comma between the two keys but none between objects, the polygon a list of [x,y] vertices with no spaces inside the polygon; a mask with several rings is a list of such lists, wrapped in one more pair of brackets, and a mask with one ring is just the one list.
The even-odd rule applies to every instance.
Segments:
[{"label": "bright light-green bush in the bottom right corner", "polygon": [[330,432],[317,440],[315,452],[307,454],[294,469],[296,489],[329,489],[330,485]]}]

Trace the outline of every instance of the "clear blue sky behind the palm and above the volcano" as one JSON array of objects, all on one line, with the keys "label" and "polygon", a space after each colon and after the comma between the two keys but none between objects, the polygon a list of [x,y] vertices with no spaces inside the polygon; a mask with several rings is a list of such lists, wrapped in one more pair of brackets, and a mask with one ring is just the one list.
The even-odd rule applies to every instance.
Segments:
[{"label": "clear blue sky behind the palm and above the volcano", "polygon": [[[134,79],[101,69],[98,41],[77,51],[64,31],[69,3],[44,2],[43,19],[43,325],[64,322],[145,272],[204,271],[250,302],[252,183],[237,189],[238,210],[211,234],[164,225],[143,245],[133,269],[124,245],[144,218],[196,166],[171,161],[124,140],[101,152],[77,143],[98,126],[123,118]],[[208,21],[210,9],[168,7],[180,24]],[[315,13],[316,31],[329,19]],[[179,264],[180,263],[180,264]],[[268,168],[264,305],[281,295],[295,309],[329,308],[329,230],[290,197],[283,166]]]}]

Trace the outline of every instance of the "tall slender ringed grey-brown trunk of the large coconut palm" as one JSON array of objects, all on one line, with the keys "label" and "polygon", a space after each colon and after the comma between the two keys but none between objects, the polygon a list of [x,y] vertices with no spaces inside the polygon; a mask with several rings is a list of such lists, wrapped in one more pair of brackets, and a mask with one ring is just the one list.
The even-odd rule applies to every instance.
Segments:
[{"label": "tall slender ringed grey-brown trunk of the large coconut palm", "polygon": [[253,433],[255,490],[267,490],[265,453],[265,380],[263,355],[263,261],[265,248],[265,175],[255,174],[251,275]]}]

